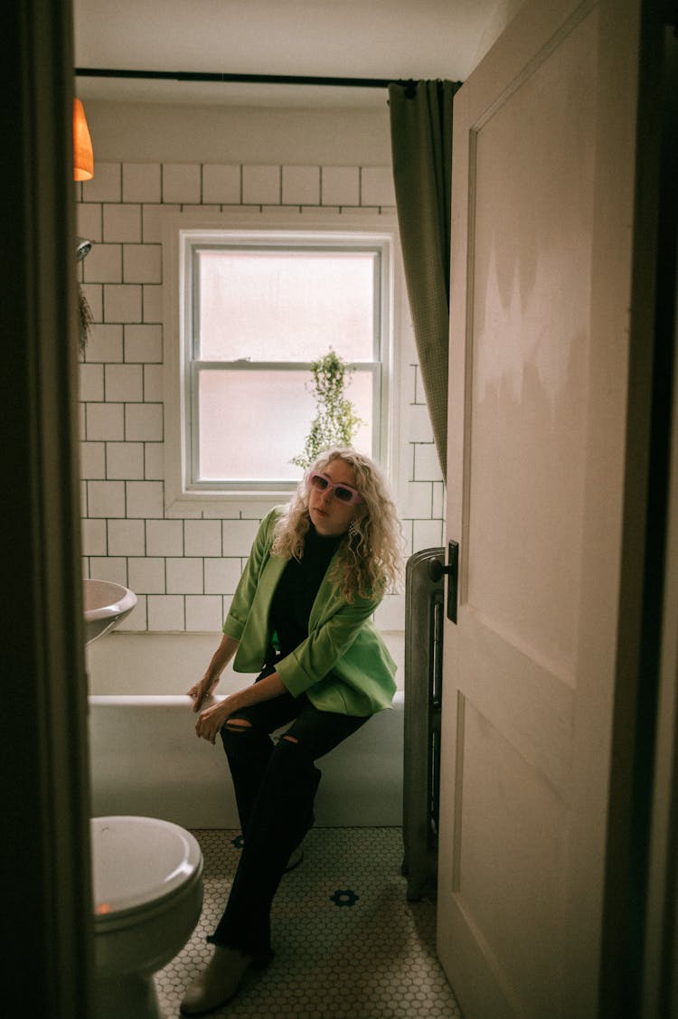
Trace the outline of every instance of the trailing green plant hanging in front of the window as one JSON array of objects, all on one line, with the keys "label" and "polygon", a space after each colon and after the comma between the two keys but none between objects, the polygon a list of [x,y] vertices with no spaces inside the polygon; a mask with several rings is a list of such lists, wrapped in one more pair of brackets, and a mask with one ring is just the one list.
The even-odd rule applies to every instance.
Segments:
[{"label": "trailing green plant hanging in front of the window", "polygon": [[304,451],[294,457],[293,464],[304,471],[331,446],[350,446],[360,425],[364,424],[345,394],[353,370],[330,347],[324,357],[311,365],[313,388],[317,405],[316,416],[306,437]]}]

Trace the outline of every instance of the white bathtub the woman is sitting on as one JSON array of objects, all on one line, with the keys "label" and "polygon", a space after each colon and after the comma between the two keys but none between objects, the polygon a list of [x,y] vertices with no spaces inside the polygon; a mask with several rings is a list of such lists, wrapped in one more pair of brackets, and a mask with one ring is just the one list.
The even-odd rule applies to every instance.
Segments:
[{"label": "white bathtub the woman is sitting on", "polygon": [[[166,687],[176,686],[177,660],[186,666],[195,650],[201,669],[192,671],[190,682],[181,684],[188,689],[204,671],[209,655],[205,658],[202,648],[192,648],[186,638],[177,644],[180,640],[110,634],[91,645],[92,811],[95,816],[161,817],[188,828],[237,828],[236,801],[221,742],[212,746],[195,735],[191,699],[180,693],[100,692],[102,686],[111,690],[115,685],[139,690],[148,687],[149,681],[157,688],[160,677],[150,674],[161,674],[172,658],[172,678],[165,672]],[[178,649],[184,656],[179,659],[175,657]],[[143,676],[144,683],[135,684],[134,675]],[[114,677],[119,684],[111,682]],[[243,681],[244,677],[224,677],[220,690],[226,693]],[[319,826],[402,823],[403,706],[399,691],[393,710],[380,711],[319,760],[322,781],[315,807]]]}]

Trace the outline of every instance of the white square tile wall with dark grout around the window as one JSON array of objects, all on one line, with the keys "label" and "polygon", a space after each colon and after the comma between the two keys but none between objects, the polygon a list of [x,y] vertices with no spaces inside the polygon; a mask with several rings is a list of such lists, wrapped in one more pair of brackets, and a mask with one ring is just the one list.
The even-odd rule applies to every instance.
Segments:
[{"label": "white square tile wall with dark grout around the window", "polygon": [[[216,633],[268,502],[224,502],[165,519],[162,225],[167,210],[205,215],[254,206],[267,214],[393,212],[389,167],[97,163],[76,185],[80,264],[94,317],[80,366],[83,569],[137,594],[122,629]],[[400,352],[404,393],[400,494],[408,554],[442,544],[445,486],[419,367]],[[404,629],[405,598],[386,596],[383,630]]]}]

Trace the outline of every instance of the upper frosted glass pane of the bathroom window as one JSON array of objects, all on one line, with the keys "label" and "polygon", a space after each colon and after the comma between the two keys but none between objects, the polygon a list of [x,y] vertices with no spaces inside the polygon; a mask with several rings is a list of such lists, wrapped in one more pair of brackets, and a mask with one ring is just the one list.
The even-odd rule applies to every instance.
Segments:
[{"label": "upper frosted glass pane of the bathroom window", "polygon": [[198,252],[200,359],[374,357],[372,252]]}]

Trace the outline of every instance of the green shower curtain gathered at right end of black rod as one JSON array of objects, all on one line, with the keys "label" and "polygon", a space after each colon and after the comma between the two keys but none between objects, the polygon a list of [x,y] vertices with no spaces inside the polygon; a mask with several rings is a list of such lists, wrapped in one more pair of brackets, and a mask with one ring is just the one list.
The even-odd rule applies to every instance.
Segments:
[{"label": "green shower curtain gathered at right end of black rod", "polygon": [[453,98],[461,82],[388,86],[398,223],[414,335],[447,479]]}]

